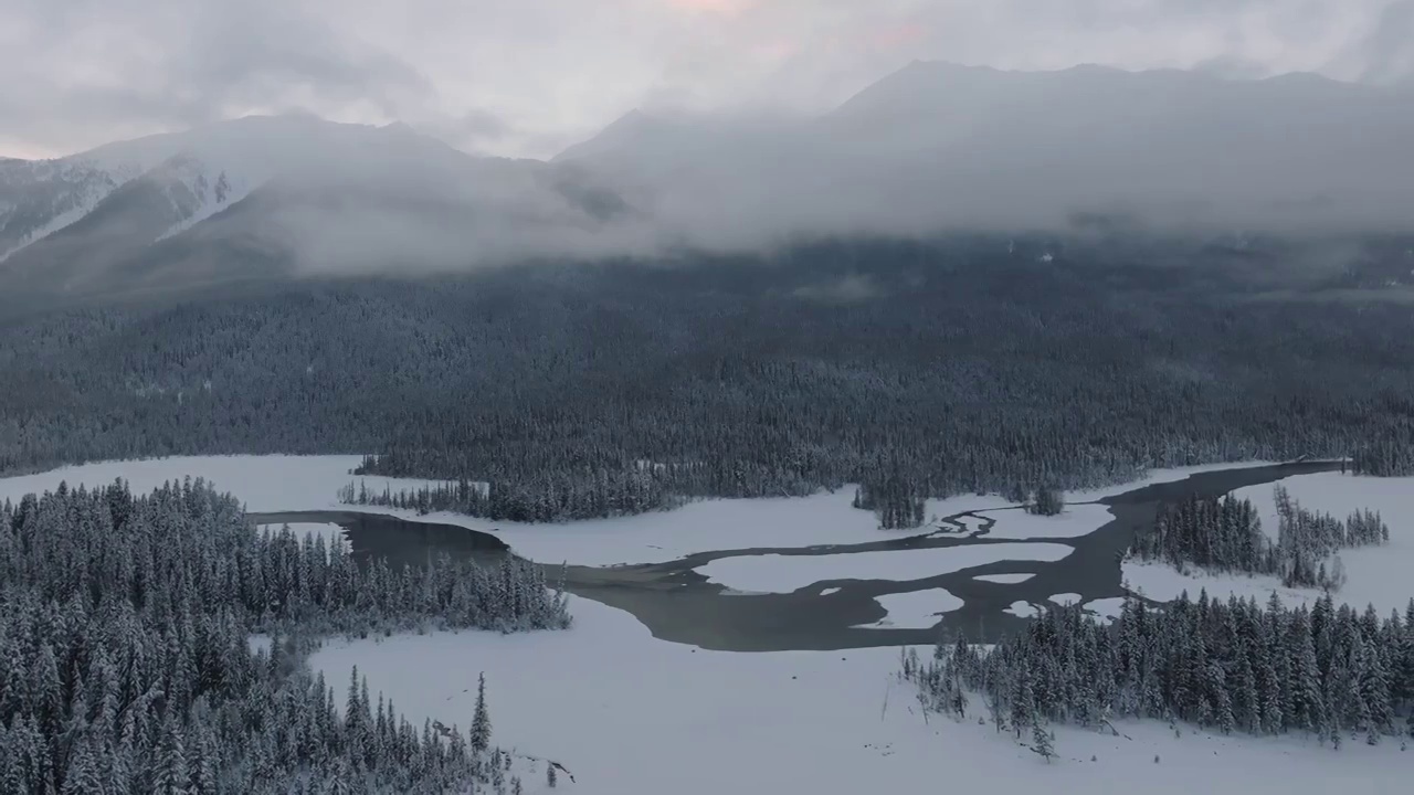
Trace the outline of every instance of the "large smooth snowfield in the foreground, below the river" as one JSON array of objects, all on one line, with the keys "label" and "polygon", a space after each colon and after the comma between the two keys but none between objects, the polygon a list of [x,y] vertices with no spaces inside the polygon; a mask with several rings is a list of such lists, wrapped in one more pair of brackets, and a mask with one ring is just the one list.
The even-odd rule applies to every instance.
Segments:
[{"label": "large smooth snowfield in the foreground, below the river", "polygon": [[[658,641],[597,603],[573,600],[571,611],[564,632],[339,641],[312,663],[331,682],[356,663],[373,696],[392,696],[417,726],[465,727],[485,672],[492,741],[559,761],[577,778],[561,777],[560,789],[587,795],[908,792],[939,770],[957,788],[1008,794],[1189,795],[1195,770],[1215,791],[1243,795],[1407,787],[1397,743],[1336,753],[1299,737],[1188,727],[1175,738],[1159,721],[1121,723],[1128,737],[1056,727],[1060,758],[1045,764],[974,717],[925,723],[915,690],[894,676],[899,649],[711,652]],[[976,700],[973,710],[984,712]],[[526,784],[536,792],[540,782]]]}]

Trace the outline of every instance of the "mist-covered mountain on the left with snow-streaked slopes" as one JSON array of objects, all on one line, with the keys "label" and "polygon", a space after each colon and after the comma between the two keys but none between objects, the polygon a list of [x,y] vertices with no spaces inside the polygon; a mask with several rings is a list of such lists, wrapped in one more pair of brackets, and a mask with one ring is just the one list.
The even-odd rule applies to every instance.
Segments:
[{"label": "mist-covered mountain on the left with snow-streaked slopes", "polygon": [[252,273],[440,269],[626,245],[573,164],[478,158],[403,124],[246,117],[0,161],[0,273],[86,294]]}]

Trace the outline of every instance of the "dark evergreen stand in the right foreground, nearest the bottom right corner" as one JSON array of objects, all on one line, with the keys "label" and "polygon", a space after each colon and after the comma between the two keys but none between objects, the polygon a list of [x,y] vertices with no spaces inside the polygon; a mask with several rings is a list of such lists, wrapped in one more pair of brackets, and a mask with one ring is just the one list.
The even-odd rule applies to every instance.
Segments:
[{"label": "dark evergreen stand in the right foreground, nearest the bottom right corner", "polygon": [[1275,594],[1264,607],[1185,594],[1161,610],[1131,597],[1113,624],[1055,608],[990,651],[963,639],[926,662],[912,651],[902,673],[925,709],[984,713],[1046,757],[1049,723],[1113,730],[1130,717],[1377,744],[1414,736],[1414,601],[1381,620],[1329,594],[1311,610]]}]

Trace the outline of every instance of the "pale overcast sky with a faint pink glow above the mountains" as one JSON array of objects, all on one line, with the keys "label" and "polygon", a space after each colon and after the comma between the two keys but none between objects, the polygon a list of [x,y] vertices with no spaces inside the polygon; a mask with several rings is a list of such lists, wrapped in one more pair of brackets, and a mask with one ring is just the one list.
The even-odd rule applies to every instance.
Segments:
[{"label": "pale overcast sky with a faint pink glow above the mountains", "polygon": [[632,108],[819,112],[913,58],[1414,74],[1414,0],[3,0],[0,154],[247,113],[547,157]]}]

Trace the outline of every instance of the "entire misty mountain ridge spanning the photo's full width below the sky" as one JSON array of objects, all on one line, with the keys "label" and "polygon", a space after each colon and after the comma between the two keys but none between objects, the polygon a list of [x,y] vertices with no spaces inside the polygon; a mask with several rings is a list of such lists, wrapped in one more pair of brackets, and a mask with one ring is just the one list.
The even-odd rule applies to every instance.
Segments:
[{"label": "entire misty mountain ridge spanning the photo's full width below the sky", "polygon": [[421,273],[1077,218],[1384,233],[1411,224],[1408,99],[1308,74],[913,61],[827,113],[633,109],[544,161],[477,157],[403,123],[250,116],[0,160],[0,274],[110,291],[184,269]]}]

